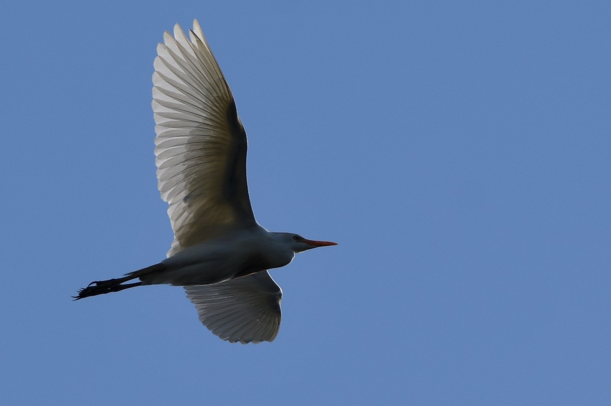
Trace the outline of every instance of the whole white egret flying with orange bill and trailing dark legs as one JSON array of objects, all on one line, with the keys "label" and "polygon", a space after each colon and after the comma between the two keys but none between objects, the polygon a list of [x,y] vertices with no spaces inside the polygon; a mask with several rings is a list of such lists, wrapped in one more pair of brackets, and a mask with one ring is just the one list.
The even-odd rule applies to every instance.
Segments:
[{"label": "whole white egret flying with orange bill and trailing dark legs", "polygon": [[189,39],[178,24],[174,37],[166,32],[157,54],[155,163],[174,242],[159,264],[91,282],[75,300],[142,285],[183,286],[200,321],[219,338],[273,341],[282,290],[268,269],[336,243],[269,232],[255,220],[246,183],[246,132],[197,20]]}]

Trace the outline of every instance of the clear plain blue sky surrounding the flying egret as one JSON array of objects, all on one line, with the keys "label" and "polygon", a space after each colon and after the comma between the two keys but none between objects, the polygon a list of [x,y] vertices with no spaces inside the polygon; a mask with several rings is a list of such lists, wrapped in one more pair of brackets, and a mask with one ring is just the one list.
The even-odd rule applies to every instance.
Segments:
[{"label": "clear plain blue sky surrounding the flying egret", "polygon": [[[198,18],[272,272],[273,343],[183,289],[71,301],[172,242],[151,76]],[[3,405],[611,404],[611,3],[2,6]]]}]

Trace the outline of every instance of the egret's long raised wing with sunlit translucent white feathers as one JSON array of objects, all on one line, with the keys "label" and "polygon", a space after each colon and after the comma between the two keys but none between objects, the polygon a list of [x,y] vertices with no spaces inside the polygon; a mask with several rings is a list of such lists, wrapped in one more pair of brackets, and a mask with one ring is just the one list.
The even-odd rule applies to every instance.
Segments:
[{"label": "egret's long raised wing with sunlit translucent white feathers", "polygon": [[159,191],[174,230],[169,255],[255,222],[246,184],[246,132],[202,29],[180,26],[157,46],[153,73]]}]

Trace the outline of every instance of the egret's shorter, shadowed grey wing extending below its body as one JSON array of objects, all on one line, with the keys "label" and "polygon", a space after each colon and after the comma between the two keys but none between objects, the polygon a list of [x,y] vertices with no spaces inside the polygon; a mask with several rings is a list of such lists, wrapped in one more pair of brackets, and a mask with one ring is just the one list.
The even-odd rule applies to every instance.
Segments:
[{"label": "egret's shorter, shadowed grey wing extending below its body", "polygon": [[276,338],[282,289],[268,271],[185,290],[199,320],[219,338],[242,344]]}]

